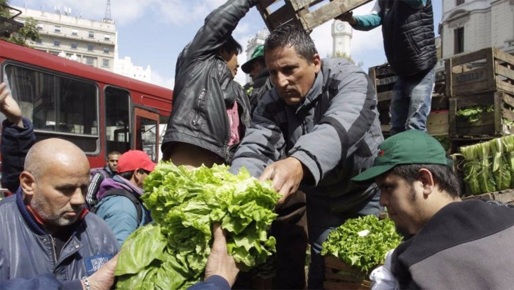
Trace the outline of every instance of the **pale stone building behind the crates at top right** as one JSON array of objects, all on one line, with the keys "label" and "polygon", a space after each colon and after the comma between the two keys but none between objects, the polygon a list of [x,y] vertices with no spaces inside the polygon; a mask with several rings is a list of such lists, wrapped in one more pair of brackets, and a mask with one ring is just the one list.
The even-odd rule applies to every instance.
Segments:
[{"label": "pale stone building behind the crates at top right", "polygon": [[442,59],[491,46],[514,54],[514,0],[443,0],[439,33]]}]

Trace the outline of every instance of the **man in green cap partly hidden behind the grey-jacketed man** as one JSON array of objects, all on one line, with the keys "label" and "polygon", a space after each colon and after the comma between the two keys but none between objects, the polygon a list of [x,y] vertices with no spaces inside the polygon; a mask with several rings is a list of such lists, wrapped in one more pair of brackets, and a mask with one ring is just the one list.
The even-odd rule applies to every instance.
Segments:
[{"label": "man in green cap partly hidden behind the grey-jacketed man", "polygon": [[264,45],[255,47],[252,57],[241,66],[241,69],[252,79],[243,88],[250,99],[251,114],[253,114],[262,97],[273,88],[269,80],[269,70],[264,61]]}]

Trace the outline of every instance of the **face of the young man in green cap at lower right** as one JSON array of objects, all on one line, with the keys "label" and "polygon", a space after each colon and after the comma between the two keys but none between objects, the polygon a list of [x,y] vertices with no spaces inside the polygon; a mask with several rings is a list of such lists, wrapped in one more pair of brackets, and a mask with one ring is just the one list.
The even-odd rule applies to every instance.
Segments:
[{"label": "face of the young man in green cap at lower right", "polygon": [[426,222],[423,219],[423,189],[417,182],[410,185],[393,172],[378,176],[375,182],[380,188],[380,205],[387,207],[397,231],[403,235],[417,233]]}]

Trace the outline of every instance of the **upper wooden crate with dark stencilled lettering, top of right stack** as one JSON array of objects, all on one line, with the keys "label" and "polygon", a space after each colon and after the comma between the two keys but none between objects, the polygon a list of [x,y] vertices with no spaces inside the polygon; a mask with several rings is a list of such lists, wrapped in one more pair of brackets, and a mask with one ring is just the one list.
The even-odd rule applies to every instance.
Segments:
[{"label": "upper wooden crate with dark stencilled lettering, top of right stack", "polygon": [[495,47],[447,59],[445,70],[447,96],[496,90],[514,93],[514,56]]}]

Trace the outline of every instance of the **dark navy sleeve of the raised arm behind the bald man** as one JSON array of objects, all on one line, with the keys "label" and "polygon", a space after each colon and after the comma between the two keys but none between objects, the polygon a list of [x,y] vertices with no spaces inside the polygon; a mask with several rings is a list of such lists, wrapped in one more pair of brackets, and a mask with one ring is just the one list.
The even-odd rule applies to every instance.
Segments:
[{"label": "dark navy sleeve of the raised arm behind the bald man", "polygon": [[8,120],[2,122],[2,184],[10,192],[16,192],[20,186],[19,176],[23,171],[25,156],[35,142],[32,123],[23,118],[23,127]]}]

